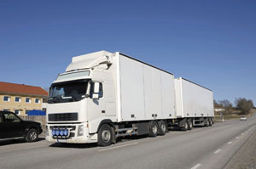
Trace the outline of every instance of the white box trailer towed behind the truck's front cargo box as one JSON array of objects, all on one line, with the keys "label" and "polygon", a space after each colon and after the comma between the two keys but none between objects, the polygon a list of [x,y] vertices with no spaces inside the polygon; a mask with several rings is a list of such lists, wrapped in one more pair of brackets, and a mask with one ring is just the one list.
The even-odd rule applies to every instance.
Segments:
[{"label": "white box trailer towed behind the truck's front cargo box", "polygon": [[212,126],[214,117],[212,90],[182,77],[175,79],[174,83],[177,120],[188,121],[188,126],[185,126],[188,129],[199,125]]}]

